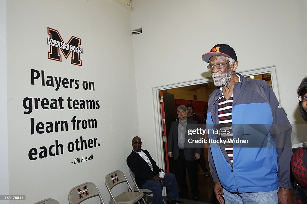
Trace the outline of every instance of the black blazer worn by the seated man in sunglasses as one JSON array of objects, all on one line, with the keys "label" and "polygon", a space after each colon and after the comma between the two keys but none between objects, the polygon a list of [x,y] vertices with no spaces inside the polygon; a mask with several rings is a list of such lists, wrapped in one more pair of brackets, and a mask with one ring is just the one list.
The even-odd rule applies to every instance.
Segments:
[{"label": "black blazer worn by the seated man in sunglasses", "polygon": [[[142,150],[142,149],[141,149]],[[142,188],[142,185],[150,179],[153,179],[153,176],[156,176],[161,170],[156,162],[151,158],[147,150],[142,150],[147,157],[149,158],[151,164],[153,165],[153,171],[151,171],[148,163],[135,151],[131,151],[127,157],[127,165],[135,175],[135,181],[138,187]]]}]

